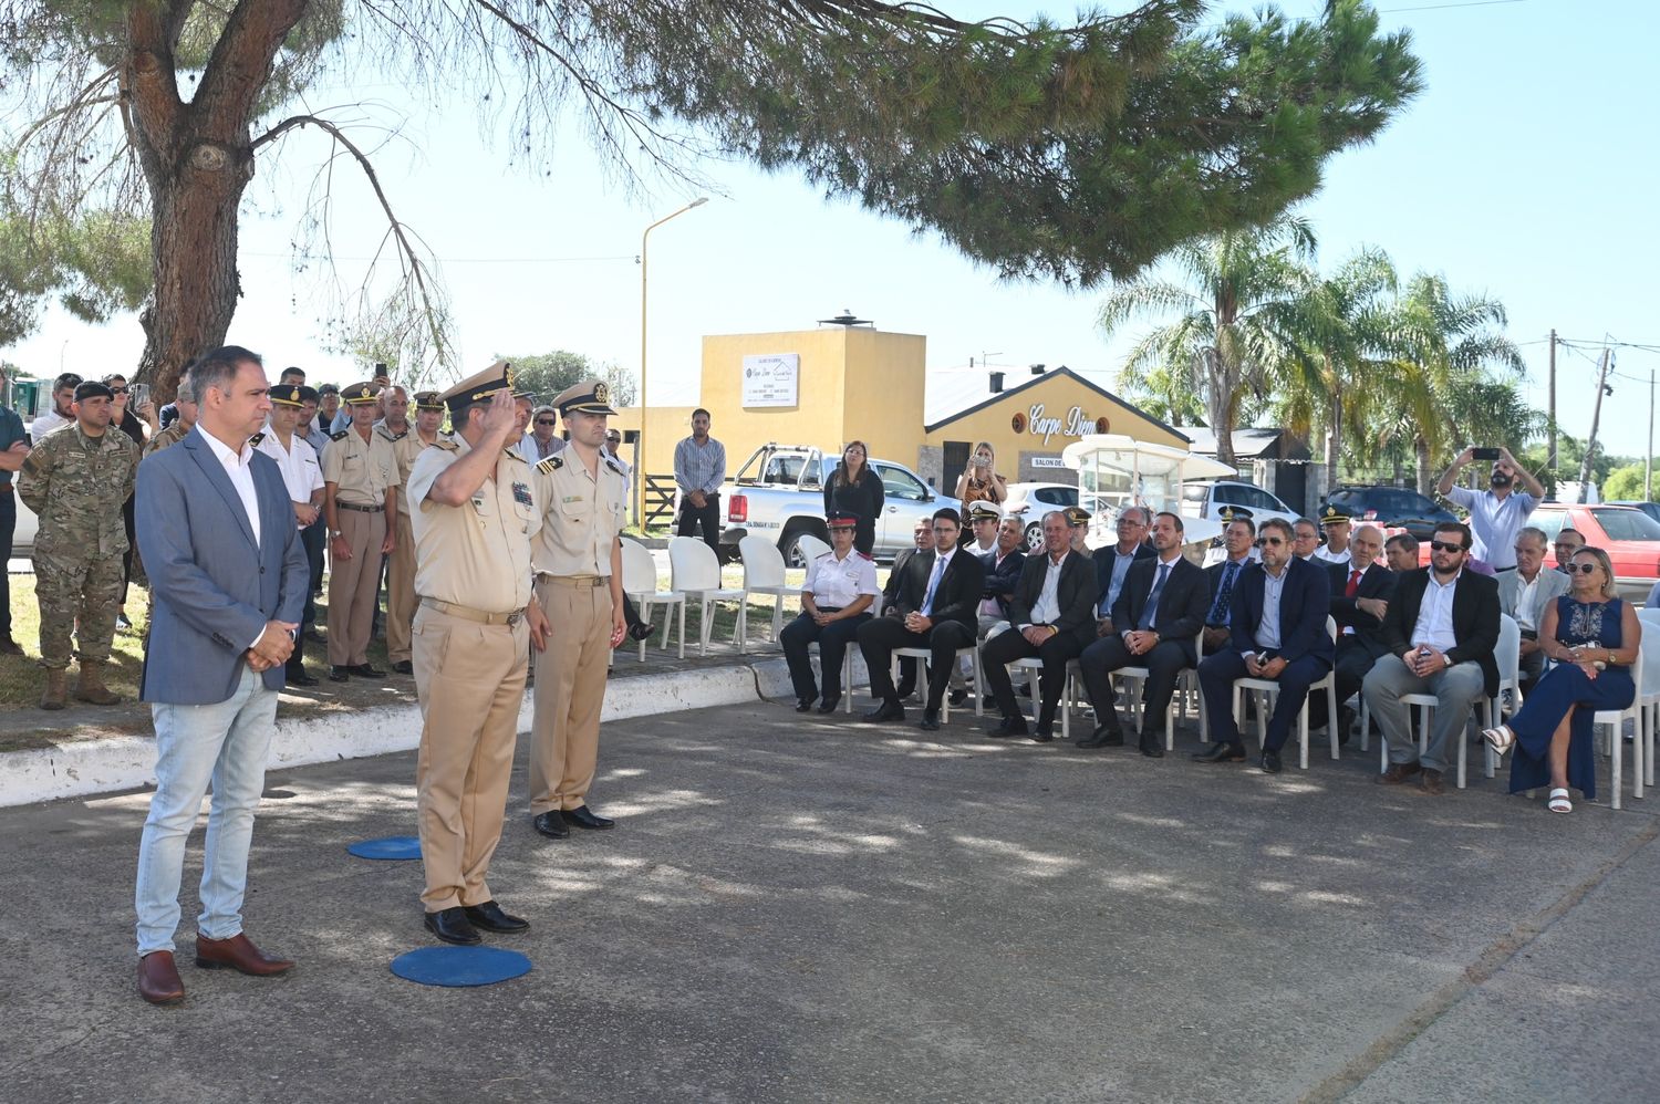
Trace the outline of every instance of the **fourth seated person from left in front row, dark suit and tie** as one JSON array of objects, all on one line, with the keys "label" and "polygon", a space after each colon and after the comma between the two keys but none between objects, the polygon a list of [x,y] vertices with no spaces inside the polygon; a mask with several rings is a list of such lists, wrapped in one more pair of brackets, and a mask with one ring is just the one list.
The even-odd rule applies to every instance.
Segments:
[{"label": "fourth seated person from left in front row, dark suit and tie", "polygon": [[1194,644],[1205,624],[1210,599],[1205,573],[1182,556],[1182,535],[1180,516],[1160,513],[1154,518],[1155,556],[1130,566],[1112,609],[1112,626],[1117,631],[1086,647],[1077,661],[1097,721],[1096,730],[1079,740],[1079,747],[1124,744],[1112,702],[1111,674],[1119,667],[1137,666],[1147,667],[1140,750],[1154,759],[1164,755],[1157,724],[1170,707],[1177,676],[1184,667],[1199,666]]}]

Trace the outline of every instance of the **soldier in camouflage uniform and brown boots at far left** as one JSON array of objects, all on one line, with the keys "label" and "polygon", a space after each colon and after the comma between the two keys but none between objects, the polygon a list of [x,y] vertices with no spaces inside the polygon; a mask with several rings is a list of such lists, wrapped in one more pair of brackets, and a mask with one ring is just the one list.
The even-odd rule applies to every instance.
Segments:
[{"label": "soldier in camouflage uniform and brown boots at far left", "polygon": [[[95,706],[121,699],[103,684],[121,601],[128,550],[121,503],[133,493],[139,450],[110,432],[113,392],[95,380],[75,388],[75,425],[46,435],[23,462],[18,496],[40,518],[35,598],[40,604],[42,709],[68,704],[70,637],[78,633],[81,676],[75,697]],[[76,629],[76,618],[80,628]]]}]

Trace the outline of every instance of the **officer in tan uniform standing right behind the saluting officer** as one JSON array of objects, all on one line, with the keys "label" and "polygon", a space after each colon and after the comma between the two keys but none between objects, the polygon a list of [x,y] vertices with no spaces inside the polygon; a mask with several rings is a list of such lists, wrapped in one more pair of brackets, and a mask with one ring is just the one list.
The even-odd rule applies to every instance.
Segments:
[{"label": "officer in tan uniform standing right behind the saluting officer", "polygon": [[599,760],[606,661],[622,642],[622,520],[627,481],[604,452],[609,388],[588,380],[553,405],[571,443],[536,463],[543,525],[536,538],[536,601],[548,614],[548,647],[536,657],[530,810],[556,840],[616,822],[588,808]]}]

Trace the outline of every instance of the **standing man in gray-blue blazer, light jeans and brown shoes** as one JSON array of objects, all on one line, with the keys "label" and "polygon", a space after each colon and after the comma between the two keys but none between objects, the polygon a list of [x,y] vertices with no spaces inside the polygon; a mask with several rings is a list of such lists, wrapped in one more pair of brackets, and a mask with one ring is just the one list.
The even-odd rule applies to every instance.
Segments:
[{"label": "standing man in gray-blue blazer, light jeans and brown shoes", "polygon": [[310,568],[277,463],[252,448],[271,412],[259,357],[226,345],[189,369],[199,415],[138,468],[138,548],[151,583],[143,699],[156,794],[138,848],[138,993],[184,998],[173,961],[184,840],[212,782],[196,965],[276,975],[294,963],[242,935],[247,848]]}]

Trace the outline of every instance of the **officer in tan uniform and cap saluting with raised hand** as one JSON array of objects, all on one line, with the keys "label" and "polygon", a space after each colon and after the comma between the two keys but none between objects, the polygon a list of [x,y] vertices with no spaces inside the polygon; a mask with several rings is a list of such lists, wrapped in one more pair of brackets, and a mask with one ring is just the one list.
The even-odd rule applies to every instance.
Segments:
[{"label": "officer in tan uniform and cap saluting with raised hand", "polygon": [[407,483],[415,533],[413,654],[420,697],[415,790],[427,930],[447,943],[528,921],[485,875],[501,838],[528,646],[546,644],[531,601],[536,480],[510,443],[511,367],[496,362],[443,395],[455,435],[422,450]]}]

